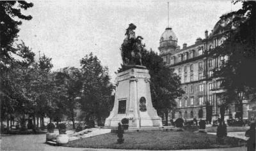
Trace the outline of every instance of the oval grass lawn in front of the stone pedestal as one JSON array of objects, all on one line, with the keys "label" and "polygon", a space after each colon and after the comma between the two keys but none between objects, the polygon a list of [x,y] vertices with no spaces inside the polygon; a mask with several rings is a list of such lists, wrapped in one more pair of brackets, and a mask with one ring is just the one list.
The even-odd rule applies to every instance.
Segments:
[{"label": "oval grass lawn in front of the stone pedestal", "polygon": [[216,135],[176,131],[128,132],[124,134],[124,139],[125,141],[123,144],[117,144],[116,134],[108,133],[70,141],[65,146],[84,148],[178,150],[240,147],[245,145],[245,141],[239,138],[225,137],[225,143],[221,145],[216,143]]}]

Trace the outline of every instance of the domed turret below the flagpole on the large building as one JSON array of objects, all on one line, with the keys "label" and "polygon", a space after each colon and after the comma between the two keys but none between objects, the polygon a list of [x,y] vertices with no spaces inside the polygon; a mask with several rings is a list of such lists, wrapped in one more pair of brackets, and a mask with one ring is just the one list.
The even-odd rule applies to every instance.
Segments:
[{"label": "domed turret below the flagpole on the large building", "polygon": [[161,47],[177,47],[178,38],[172,31],[172,28],[166,28],[164,33],[160,38],[160,48]]}]

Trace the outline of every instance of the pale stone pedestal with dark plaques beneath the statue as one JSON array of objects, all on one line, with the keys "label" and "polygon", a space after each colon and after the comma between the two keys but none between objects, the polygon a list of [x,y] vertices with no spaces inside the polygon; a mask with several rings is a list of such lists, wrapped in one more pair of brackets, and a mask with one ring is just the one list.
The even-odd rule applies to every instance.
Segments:
[{"label": "pale stone pedestal with dark plaques beneath the statue", "polygon": [[115,104],[105,127],[117,127],[124,118],[129,119],[129,129],[163,126],[152,106],[147,69],[132,68],[117,74]]}]

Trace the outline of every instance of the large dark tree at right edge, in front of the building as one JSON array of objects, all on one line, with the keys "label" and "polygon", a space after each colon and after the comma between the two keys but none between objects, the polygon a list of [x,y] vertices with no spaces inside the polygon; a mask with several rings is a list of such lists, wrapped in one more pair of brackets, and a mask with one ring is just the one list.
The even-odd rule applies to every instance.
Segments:
[{"label": "large dark tree at right edge, in front of the building", "polygon": [[[237,1],[232,3],[236,4]],[[256,96],[256,2],[242,1],[240,10],[227,13],[220,18],[232,18],[232,30],[225,32],[226,40],[222,45],[212,49],[209,54],[215,58],[227,56],[220,69],[216,69],[214,76],[221,77],[221,119],[225,108],[230,103],[239,107],[243,119],[243,99],[245,97],[255,101]]]}]

